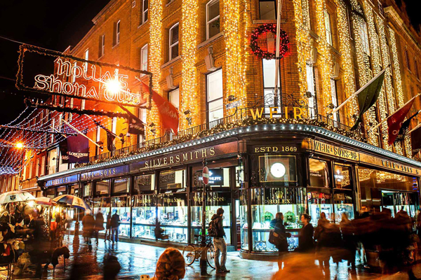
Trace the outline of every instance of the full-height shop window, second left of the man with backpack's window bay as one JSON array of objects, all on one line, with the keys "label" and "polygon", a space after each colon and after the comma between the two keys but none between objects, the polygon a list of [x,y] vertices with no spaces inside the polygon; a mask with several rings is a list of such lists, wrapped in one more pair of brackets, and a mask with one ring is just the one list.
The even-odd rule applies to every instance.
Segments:
[{"label": "full-height shop window, second left of the man with backpack's window bay", "polygon": [[132,237],[155,239],[155,174],[133,177]]}]

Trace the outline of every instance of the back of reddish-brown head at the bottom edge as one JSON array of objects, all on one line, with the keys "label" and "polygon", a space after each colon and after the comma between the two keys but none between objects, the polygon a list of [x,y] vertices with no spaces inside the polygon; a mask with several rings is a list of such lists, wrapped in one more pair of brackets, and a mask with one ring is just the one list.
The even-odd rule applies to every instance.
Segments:
[{"label": "back of reddish-brown head at the bottom edge", "polygon": [[180,280],[186,274],[185,259],[175,248],[166,248],[156,262],[156,271],[151,280]]}]

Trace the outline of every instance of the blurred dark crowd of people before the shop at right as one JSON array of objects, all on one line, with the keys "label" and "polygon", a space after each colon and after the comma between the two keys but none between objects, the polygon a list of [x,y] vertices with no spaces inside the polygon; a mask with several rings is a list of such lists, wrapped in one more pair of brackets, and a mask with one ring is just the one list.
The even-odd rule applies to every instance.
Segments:
[{"label": "blurred dark crowd of people before the shop at right", "polygon": [[[364,267],[379,269],[382,273],[394,272],[415,261],[416,244],[420,238],[414,228],[421,234],[421,215],[418,212],[417,221],[410,218],[403,208],[394,218],[387,208],[380,212],[364,211],[354,220],[349,220],[343,213],[340,223],[335,223],[335,218],[329,221],[322,212],[316,228],[310,223],[311,217],[302,214],[299,245],[295,253],[306,253],[306,258],[310,256],[318,260],[319,269],[326,279],[330,279],[330,260],[337,265],[346,261],[352,272],[356,269],[356,260]],[[288,267],[291,257],[302,254],[288,254],[287,239],[290,234],[286,232],[282,213],[276,214],[270,225],[279,236],[276,248],[281,270]],[[410,279],[415,279],[412,271],[407,271]]]}]

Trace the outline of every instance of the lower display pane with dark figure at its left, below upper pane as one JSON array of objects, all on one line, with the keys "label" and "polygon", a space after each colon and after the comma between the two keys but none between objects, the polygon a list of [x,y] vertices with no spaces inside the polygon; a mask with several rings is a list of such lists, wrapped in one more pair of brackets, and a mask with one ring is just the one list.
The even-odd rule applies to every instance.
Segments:
[{"label": "lower display pane with dark figure at its left, below upper pane", "polygon": [[187,193],[160,194],[157,216],[158,239],[187,243]]}]

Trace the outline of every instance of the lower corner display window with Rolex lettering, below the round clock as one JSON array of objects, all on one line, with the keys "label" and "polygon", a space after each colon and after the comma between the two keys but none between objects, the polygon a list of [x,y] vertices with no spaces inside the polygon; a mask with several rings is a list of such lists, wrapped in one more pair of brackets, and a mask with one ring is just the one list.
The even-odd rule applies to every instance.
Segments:
[{"label": "lower corner display window with Rolex lettering, below the round clock", "polygon": [[[305,213],[305,188],[254,188],[251,190],[253,251],[277,251],[269,239],[269,223],[276,213],[283,214],[287,229],[299,229]],[[291,232],[288,250],[298,246],[298,232]],[[242,237],[241,237],[242,238]]]}]

